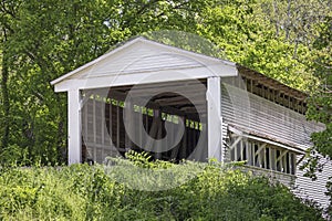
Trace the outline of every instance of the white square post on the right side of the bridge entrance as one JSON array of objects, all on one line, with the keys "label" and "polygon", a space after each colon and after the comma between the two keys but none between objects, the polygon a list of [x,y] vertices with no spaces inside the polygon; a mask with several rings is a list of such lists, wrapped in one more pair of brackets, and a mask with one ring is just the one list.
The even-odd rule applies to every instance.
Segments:
[{"label": "white square post on the right side of the bridge entrance", "polygon": [[222,160],[221,155],[221,86],[220,77],[207,78],[208,158]]}]

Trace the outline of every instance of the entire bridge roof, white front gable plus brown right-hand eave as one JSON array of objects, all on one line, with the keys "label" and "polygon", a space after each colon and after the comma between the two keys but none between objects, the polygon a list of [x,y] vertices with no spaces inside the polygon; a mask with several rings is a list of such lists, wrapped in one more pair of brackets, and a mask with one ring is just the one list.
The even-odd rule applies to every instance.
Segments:
[{"label": "entire bridge roof, white front gable plus brown right-hand eave", "polygon": [[[118,85],[128,85],[139,82],[132,81],[135,77],[131,76],[136,76],[137,73],[141,73],[143,76],[146,73],[153,72],[159,73],[159,75],[155,74],[154,82],[163,82],[172,81],[172,76],[168,75],[170,71],[174,72],[175,70],[187,70],[187,72],[183,71],[181,73],[193,75],[191,78],[206,78],[214,75],[237,76],[240,73],[245,77],[258,80],[263,85],[283,92],[297,99],[304,101],[308,97],[308,94],[301,91],[289,87],[277,80],[240,64],[166,45],[143,36],[122,43],[104,55],[52,81],[51,84],[55,85],[55,91],[63,92],[68,91],[75,81],[81,78],[83,81],[91,80],[91,84],[81,83],[80,88],[85,88],[85,86],[86,88],[92,88],[101,85],[110,86],[101,84],[101,82],[110,81],[111,76],[113,76],[112,81],[115,82],[114,78],[123,75],[124,78],[123,81],[118,81]],[[142,76],[138,78],[142,80]],[[93,78],[94,81],[92,81]],[[178,80],[183,78],[174,77],[173,81]],[[65,86],[58,86],[61,84]]]}]

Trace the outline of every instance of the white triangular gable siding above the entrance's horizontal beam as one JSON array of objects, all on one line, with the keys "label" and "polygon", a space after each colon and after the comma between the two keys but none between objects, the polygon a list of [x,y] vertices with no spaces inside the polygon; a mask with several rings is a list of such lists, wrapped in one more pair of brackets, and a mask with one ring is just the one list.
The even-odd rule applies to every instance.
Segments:
[{"label": "white triangular gable siding above the entrance's horizontal beam", "polygon": [[237,74],[235,63],[137,38],[52,81],[51,84],[56,85],[69,78],[98,77],[104,74],[110,75],[112,72],[117,75],[126,72],[151,72],[184,66],[205,66],[215,74],[229,75],[229,72]]}]

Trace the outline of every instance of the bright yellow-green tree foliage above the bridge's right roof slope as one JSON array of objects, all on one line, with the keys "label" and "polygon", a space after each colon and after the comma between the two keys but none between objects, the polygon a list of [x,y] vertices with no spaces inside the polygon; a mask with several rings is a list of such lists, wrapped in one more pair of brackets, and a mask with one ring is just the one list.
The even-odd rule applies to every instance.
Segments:
[{"label": "bright yellow-green tree foliage above the bridge's right roof slope", "polygon": [[317,81],[302,62],[311,61],[311,51],[304,43],[294,44],[276,33],[270,4],[270,0],[219,1],[203,12],[198,32],[221,48],[226,59],[305,91]]}]

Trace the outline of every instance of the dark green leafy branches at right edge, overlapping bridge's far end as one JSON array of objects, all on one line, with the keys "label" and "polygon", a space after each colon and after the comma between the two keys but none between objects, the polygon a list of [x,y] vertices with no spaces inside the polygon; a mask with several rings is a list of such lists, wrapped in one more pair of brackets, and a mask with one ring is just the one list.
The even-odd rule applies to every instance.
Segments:
[{"label": "dark green leafy branches at right edge, overlapping bridge's far end", "polygon": [[[326,17],[320,25],[320,36],[314,41],[313,46],[319,50],[314,63],[315,74],[320,78],[320,87],[309,101],[307,116],[309,119],[325,124],[323,131],[312,134],[311,138],[314,146],[305,166],[308,175],[313,179],[315,171],[322,171],[325,164],[331,164],[328,159],[332,158],[332,17]],[[332,177],[329,178],[328,196],[330,197],[330,213],[332,212]]]}]

